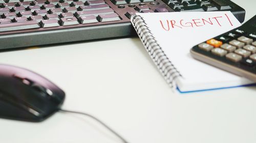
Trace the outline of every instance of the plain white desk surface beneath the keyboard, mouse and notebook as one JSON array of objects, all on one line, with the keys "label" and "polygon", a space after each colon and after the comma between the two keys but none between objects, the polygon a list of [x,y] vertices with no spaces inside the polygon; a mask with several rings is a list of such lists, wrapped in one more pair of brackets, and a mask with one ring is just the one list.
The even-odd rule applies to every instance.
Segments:
[{"label": "plain white desk surface beneath the keyboard, mouse and notebook", "polygon": [[[255,14],[256,1],[236,0]],[[0,53],[66,92],[64,109],[84,111],[130,143],[256,142],[256,88],[173,93],[138,38]],[[120,142],[88,117],[57,112],[41,123],[0,119],[0,142]]]}]

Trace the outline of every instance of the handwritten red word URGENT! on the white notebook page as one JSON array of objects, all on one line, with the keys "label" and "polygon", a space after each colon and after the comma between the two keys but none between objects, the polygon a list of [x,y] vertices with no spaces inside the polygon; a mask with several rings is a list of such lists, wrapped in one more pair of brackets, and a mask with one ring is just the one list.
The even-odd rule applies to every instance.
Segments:
[{"label": "handwritten red word URGENT! on the white notebook page", "polygon": [[165,31],[170,31],[171,28],[185,28],[185,27],[200,27],[207,24],[214,25],[217,24],[219,26],[221,25],[221,21],[228,20],[230,25],[233,26],[232,22],[230,21],[227,14],[224,14],[224,16],[216,16],[216,17],[209,17],[209,18],[198,18],[198,19],[191,19],[188,21],[185,21],[184,19],[180,20],[166,20],[162,21],[160,20],[161,27]]}]

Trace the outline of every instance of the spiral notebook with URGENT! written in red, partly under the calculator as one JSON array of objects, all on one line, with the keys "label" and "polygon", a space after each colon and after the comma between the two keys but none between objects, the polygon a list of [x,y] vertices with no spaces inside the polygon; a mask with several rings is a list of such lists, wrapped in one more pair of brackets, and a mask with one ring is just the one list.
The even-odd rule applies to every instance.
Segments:
[{"label": "spiral notebook with URGENT! written in red, partly under the calculator", "polygon": [[231,12],[136,13],[131,22],[167,83],[181,93],[254,85],[189,53],[191,47],[240,26]]}]

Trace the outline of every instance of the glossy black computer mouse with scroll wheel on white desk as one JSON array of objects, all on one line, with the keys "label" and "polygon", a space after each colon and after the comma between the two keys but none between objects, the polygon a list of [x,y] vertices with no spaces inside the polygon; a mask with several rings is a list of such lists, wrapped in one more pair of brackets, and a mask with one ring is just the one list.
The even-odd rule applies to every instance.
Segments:
[{"label": "glossy black computer mouse with scroll wheel on white desk", "polygon": [[59,110],[65,92],[30,70],[0,64],[0,118],[41,122]]}]

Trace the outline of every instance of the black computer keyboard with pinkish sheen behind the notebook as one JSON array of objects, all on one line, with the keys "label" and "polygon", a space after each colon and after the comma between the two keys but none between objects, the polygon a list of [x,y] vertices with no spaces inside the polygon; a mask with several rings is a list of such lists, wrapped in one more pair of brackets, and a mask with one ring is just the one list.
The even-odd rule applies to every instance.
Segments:
[{"label": "black computer keyboard with pinkish sheen behind the notebook", "polygon": [[136,12],[245,10],[229,0],[0,0],[0,49],[135,35]]}]

